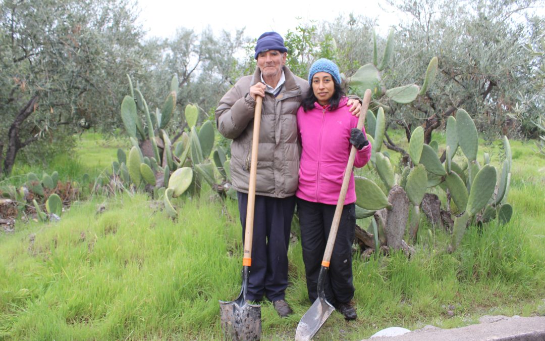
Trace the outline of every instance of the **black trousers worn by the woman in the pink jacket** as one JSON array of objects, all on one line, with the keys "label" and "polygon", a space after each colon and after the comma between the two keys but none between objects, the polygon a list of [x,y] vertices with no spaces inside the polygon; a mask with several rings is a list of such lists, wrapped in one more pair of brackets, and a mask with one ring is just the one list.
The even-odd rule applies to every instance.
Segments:
[{"label": "black trousers worn by the woman in the pink jacket", "polygon": [[[320,204],[297,198],[301,226],[301,246],[307,281],[308,298],[318,298],[318,275],[336,205]],[[352,280],[352,242],[356,225],[355,205],[344,205],[337,238],[325,278],[325,298],[331,304],[348,303],[354,297]]]}]

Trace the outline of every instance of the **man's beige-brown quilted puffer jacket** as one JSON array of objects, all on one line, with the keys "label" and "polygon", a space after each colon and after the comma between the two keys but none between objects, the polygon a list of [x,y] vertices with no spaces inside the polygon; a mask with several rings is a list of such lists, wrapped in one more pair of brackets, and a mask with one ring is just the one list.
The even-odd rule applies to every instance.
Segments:
[{"label": "man's beige-brown quilted puffer jacket", "polygon": [[[297,133],[297,109],[308,91],[308,81],[295,76],[284,66],[286,82],[275,98],[265,93],[257,161],[256,194],[286,198],[295,194],[299,174],[300,147]],[[220,100],[216,109],[217,129],[231,145],[231,180],[233,188],[248,193],[256,102],[250,86],[261,81],[256,68],[252,76],[242,77]]]}]

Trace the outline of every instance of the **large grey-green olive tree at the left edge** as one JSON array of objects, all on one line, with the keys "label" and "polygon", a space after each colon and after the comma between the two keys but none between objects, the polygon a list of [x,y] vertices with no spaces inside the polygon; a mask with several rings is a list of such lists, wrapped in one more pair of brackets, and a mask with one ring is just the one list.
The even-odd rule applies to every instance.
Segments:
[{"label": "large grey-green olive tree at the left edge", "polygon": [[[120,82],[141,64],[142,30],[126,0],[0,0],[0,164],[117,121]],[[124,90],[124,89],[123,89]],[[121,91],[121,92],[120,92]],[[46,143],[40,143],[46,142]],[[53,147],[51,147],[53,146]]]}]

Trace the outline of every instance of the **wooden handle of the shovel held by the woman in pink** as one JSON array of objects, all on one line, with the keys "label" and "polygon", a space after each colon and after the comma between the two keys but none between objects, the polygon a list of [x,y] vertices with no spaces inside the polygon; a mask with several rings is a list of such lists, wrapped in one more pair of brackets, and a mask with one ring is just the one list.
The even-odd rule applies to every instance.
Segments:
[{"label": "wooden handle of the shovel held by the woman in pink", "polygon": [[[367,115],[367,109],[369,102],[371,101],[371,90],[367,89],[364,95],[364,103],[361,105],[360,117],[358,119],[358,129],[364,127],[365,116]],[[331,260],[331,253],[333,252],[333,246],[335,245],[335,239],[337,238],[337,230],[339,222],[341,220],[341,213],[344,206],[344,199],[346,199],[346,192],[348,190],[348,183],[350,182],[350,175],[352,175],[352,167],[354,166],[354,159],[356,158],[356,147],[350,148],[350,155],[348,157],[348,164],[344,170],[344,176],[342,180],[341,193],[337,200],[337,207],[335,207],[335,214],[333,221],[331,222],[331,230],[329,230],[328,244],[325,246],[324,258],[322,260],[322,266],[329,267],[329,261]]]}]

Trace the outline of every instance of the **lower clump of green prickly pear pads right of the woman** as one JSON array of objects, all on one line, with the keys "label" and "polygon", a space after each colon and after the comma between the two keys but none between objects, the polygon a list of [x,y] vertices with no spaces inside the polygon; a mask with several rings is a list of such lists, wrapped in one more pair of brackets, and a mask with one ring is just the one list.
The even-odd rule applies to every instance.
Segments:
[{"label": "lower clump of green prickly pear pads right of the woman", "polygon": [[[501,210],[500,204],[503,198],[505,198],[510,177],[510,172],[508,171],[508,160],[511,158],[510,143],[506,138],[504,139],[506,160],[503,164],[502,174],[498,180],[498,190],[495,191],[497,172],[495,167],[490,164],[490,157],[488,156],[488,162],[482,168],[474,160],[476,159],[478,146],[477,133],[474,130],[475,124],[473,120],[462,109],[458,111],[457,116],[458,119],[451,118],[449,119],[449,123],[447,123],[447,146],[444,149],[444,161],[437,155],[440,149],[437,141],[432,141],[434,142],[434,147],[423,143],[424,132],[421,127],[413,131],[413,135],[409,141],[409,156],[412,162],[407,163],[407,166],[403,167],[401,174],[395,174],[389,158],[386,158],[383,153],[378,152],[374,158],[371,158],[373,169],[383,181],[386,190],[389,191],[388,197],[369,178],[356,177],[356,205],[368,211],[378,211],[382,208],[387,208],[379,216],[374,217],[377,220],[377,231],[381,234],[378,238],[382,244],[389,246],[385,232],[380,232],[381,226],[384,225],[384,229],[391,229],[392,226],[387,226],[388,224],[386,224],[390,219],[396,222],[398,219],[402,219],[401,224],[403,224],[403,221],[407,220],[407,218],[397,217],[396,214],[398,214],[397,212],[407,212],[409,210],[411,216],[405,222],[405,230],[409,232],[409,236],[414,241],[417,240],[417,231],[420,227],[421,216],[419,206],[425,193],[427,191],[434,193],[435,190],[433,188],[436,186],[439,186],[439,188],[447,193],[449,200],[450,198],[453,200],[453,205],[451,205],[450,201],[441,205],[447,207],[449,211],[433,213],[440,214],[441,217],[447,215],[454,220],[452,238],[448,248],[449,252],[453,252],[458,247],[468,223],[489,223],[496,216],[495,211]],[[381,127],[382,124],[380,119],[377,119],[376,127],[374,127],[376,136],[381,135],[381,131],[384,129]],[[451,147],[456,151],[458,141],[462,141],[463,139],[465,140],[461,142],[461,145],[466,157],[463,161],[467,164],[467,171],[464,171],[452,160],[455,152],[451,151]],[[401,186],[404,192],[395,189],[396,185]],[[395,193],[390,198],[392,190],[404,193],[407,199],[396,199],[399,198],[399,194]],[[372,202],[369,202],[369,200]],[[392,201],[390,202],[389,200]],[[402,205],[408,206],[409,201],[413,206],[403,209]],[[380,204],[377,204],[378,202]],[[391,207],[396,207],[397,210],[392,210]],[[510,219],[512,216],[509,209],[510,206],[506,206],[506,214],[502,216],[505,219]],[[456,214],[461,212],[463,214],[456,216]],[[371,212],[368,213],[371,214]],[[390,217],[391,214],[393,216]],[[390,233],[393,234],[395,231],[390,231]]]}]

